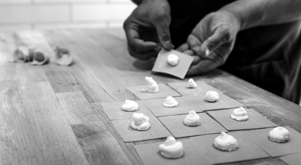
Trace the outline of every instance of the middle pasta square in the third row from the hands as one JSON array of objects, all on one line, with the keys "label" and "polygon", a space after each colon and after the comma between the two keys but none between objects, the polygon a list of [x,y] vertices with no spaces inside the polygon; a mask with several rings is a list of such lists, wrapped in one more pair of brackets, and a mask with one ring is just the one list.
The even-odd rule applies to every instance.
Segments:
[{"label": "middle pasta square in the third row from the hands", "polygon": [[186,114],[177,116],[159,117],[159,120],[166,126],[175,138],[182,138],[187,136],[207,135],[228,132],[219,123],[214,121],[205,113],[197,113],[200,116],[200,125],[187,126],[184,124]]}]

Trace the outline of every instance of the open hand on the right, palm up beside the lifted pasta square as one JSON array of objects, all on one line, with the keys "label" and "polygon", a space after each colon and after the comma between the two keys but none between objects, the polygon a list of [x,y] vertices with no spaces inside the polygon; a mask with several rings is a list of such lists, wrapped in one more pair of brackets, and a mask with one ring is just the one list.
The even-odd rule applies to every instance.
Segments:
[{"label": "open hand on the right, palm up beside the lifted pasta square", "polygon": [[239,20],[229,11],[206,15],[177,50],[194,56],[186,76],[205,73],[225,63],[231,53]]}]

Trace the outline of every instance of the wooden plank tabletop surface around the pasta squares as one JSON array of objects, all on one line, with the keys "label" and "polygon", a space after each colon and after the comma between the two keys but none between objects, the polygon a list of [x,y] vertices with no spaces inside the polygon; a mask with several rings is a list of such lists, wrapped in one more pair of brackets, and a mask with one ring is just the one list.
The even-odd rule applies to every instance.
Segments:
[{"label": "wooden plank tabletop surface around the pasta squares", "polygon": [[[152,76],[157,83],[182,80],[151,74],[154,60],[132,58],[122,29],[42,33],[52,47],[68,48],[75,62],[70,67],[9,63],[18,42],[13,32],[2,32],[0,164],[142,164],[134,145],[165,139],[124,143],[95,103],[137,100],[126,87],[144,85],[145,76]],[[279,126],[301,132],[299,105],[221,70],[193,78],[205,81]],[[260,162],[286,164],[279,158],[229,164]]]}]

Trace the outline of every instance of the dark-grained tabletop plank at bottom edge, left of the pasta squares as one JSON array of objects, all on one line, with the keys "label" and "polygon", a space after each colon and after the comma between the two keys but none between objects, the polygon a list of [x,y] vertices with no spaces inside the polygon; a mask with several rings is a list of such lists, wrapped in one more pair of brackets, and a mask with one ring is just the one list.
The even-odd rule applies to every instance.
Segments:
[{"label": "dark-grained tabletop plank at bottom edge, left of the pasta squares", "polygon": [[103,122],[75,124],[72,129],[90,165],[132,164]]}]

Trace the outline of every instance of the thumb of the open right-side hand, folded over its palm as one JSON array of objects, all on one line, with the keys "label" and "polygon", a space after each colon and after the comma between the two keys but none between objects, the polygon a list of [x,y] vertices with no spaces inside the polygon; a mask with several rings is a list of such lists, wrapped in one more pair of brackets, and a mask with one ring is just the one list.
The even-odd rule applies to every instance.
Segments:
[{"label": "thumb of the open right-side hand, folded over its palm", "polygon": [[220,45],[228,42],[230,39],[230,32],[228,29],[217,29],[212,36],[206,39],[200,46],[198,55],[208,56]]}]

